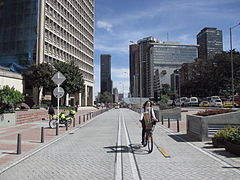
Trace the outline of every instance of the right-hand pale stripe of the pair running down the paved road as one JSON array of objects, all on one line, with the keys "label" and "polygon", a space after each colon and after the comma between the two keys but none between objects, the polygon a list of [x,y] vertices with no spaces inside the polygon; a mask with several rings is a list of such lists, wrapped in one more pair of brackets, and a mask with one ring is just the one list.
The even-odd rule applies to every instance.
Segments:
[{"label": "right-hand pale stripe of the pair running down the paved road", "polygon": [[124,131],[125,131],[127,146],[131,149],[131,151],[128,152],[128,156],[129,156],[130,165],[131,165],[131,169],[132,169],[132,177],[133,177],[134,180],[140,180],[141,178],[140,178],[140,174],[139,174],[139,171],[138,171],[138,168],[137,168],[136,160],[134,158],[133,149],[130,145],[131,142],[130,142],[129,134],[127,132],[127,127],[126,127],[126,122],[124,120],[124,115],[122,115],[122,122],[123,122]]}]

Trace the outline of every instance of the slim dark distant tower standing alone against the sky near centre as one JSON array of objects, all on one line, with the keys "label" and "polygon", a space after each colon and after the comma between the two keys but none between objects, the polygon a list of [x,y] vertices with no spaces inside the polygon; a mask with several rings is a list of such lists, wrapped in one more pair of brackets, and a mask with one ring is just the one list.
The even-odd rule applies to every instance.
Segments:
[{"label": "slim dark distant tower standing alone against the sky near centre", "polygon": [[104,92],[112,94],[110,54],[101,54],[101,94]]}]

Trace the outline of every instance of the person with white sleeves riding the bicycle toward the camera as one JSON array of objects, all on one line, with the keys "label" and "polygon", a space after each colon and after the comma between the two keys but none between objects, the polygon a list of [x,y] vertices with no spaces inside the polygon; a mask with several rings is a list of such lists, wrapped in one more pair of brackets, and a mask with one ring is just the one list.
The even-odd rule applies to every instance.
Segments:
[{"label": "person with white sleeves riding the bicycle toward the camera", "polygon": [[144,144],[144,135],[145,135],[145,132],[146,132],[146,121],[147,120],[151,121],[151,127],[153,125],[155,125],[156,122],[157,122],[157,118],[155,116],[152,105],[153,105],[153,103],[151,101],[146,101],[143,104],[144,112],[141,114],[141,118],[140,118],[140,121],[142,123],[142,145],[146,145],[146,144]]}]

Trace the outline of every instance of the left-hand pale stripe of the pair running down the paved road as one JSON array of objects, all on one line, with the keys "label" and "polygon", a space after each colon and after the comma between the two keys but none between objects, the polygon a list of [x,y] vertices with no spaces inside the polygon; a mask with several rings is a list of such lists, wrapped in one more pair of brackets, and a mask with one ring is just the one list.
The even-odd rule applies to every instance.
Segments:
[{"label": "left-hand pale stripe of the pair running down the paved road", "polygon": [[115,179],[122,180],[122,133],[121,133],[121,117],[118,115],[118,137],[116,143],[116,163],[115,163]]}]

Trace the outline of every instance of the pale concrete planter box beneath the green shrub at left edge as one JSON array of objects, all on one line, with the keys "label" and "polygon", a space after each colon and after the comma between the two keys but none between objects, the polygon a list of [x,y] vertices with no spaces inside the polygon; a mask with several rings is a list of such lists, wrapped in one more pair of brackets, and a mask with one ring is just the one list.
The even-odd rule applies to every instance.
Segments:
[{"label": "pale concrete planter box beneath the green shrub at left edge", "polygon": [[16,125],[16,114],[5,113],[0,114],[0,128],[10,127]]}]

